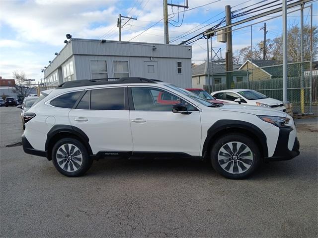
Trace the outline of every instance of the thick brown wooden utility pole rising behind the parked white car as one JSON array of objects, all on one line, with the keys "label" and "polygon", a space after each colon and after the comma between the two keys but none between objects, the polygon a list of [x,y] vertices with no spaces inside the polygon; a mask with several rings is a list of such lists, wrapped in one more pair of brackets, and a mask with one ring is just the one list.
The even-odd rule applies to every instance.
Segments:
[{"label": "thick brown wooden utility pole rising behind the parked white car", "polygon": [[[225,15],[227,20],[227,25],[231,25],[231,6],[225,6]],[[225,54],[225,65],[227,73],[227,87],[231,88],[232,79],[232,72],[233,71],[233,49],[232,49],[232,27],[227,28],[227,52]]]}]

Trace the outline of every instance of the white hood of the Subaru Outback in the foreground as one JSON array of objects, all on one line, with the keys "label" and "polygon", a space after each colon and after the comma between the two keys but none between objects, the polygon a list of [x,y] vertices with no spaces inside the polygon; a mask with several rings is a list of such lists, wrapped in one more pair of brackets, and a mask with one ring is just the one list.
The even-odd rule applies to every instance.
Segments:
[{"label": "white hood of the Subaru Outback in the foreground", "polygon": [[272,108],[262,107],[262,106],[253,106],[253,105],[242,105],[242,104],[224,104],[223,107],[220,107],[220,110],[248,113],[253,115],[280,116],[280,117],[287,116],[285,112],[278,111]]}]

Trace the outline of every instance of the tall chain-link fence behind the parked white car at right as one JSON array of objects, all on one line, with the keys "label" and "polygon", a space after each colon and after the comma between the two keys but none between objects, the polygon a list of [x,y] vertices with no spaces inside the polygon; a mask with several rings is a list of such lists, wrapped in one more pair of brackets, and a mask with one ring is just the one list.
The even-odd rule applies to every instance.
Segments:
[{"label": "tall chain-link fence behind the parked white car at right", "polygon": [[[239,70],[231,72],[213,72],[212,64],[210,82],[213,85],[204,87],[210,92],[212,89],[252,89],[282,101],[283,65],[279,63],[270,60],[246,61]],[[311,114],[312,106],[318,103],[318,71],[311,70],[310,61],[289,63],[287,75],[288,101],[293,103],[293,112]]]}]

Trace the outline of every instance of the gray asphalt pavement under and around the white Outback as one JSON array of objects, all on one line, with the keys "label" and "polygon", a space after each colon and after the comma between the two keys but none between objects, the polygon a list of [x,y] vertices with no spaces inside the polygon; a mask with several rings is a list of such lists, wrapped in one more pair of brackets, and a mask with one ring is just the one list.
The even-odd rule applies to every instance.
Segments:
[{"label": "gray asphalt pavement under and around the white Outback", "polygon": [[0,108],[0,237],[318,237],[317,118],[301,155],[245,180],[195,160],[99,160],[69,178],[27,155],[20,110]]}]

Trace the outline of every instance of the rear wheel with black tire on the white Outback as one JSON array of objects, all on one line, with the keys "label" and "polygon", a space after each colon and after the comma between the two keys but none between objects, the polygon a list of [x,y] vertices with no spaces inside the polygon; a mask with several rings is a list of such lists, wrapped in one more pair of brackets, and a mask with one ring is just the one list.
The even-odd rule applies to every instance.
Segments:
[{"label": "rear wheel with black tire on the white Outback", "polygon": [[[61,159],[61,155],[63,154],[63,152],[59,151],[59,153],[58,153],[58,150],[61,147],[64,147],[64,149],[65,149],[66,146],[64,146],[64,145],[66,145],[66,144],[71,145],[71,148],[69,148],[69,145],[67,146],[70,153],[72,153],[72,145],[73,145],[73,146],[77,147],[77,149],[80,151],[80,154],[77,153],[79,155],[76,155],[72,159],[63,159],[63,158]],[[63,151],[63,149],[62,149],[62,151]],[[64,153],[66,151],[67,150],[64,150]],[[73,150],[73,154],[76,154],[76,152],[77,152],[76,149]],[[60,157],[59,161],[57,159],[57,154],[59,154],[58,157]],[[79,159],[76,160],[77,156],[81,157],[81,164],[79,164]],[[69,158],[69,156],[65,156],[65,157]],[[64,139],[59,140],[57,143],[55,143],[55,145],[52,149],[52,160],[53,160],[53,164],[54,164],[55,168],[60,173],[62,173],[65,176],[68,176],[68,177],[78,177],[78,176],[83,175],[85,172],[87,172],[87,170],[90,168],[90,166],[92,165],[92,162],[93,162],[93,160],[89,157],[87,150],[83,146],[83,144],[81,142],[79,142],[79,140],[74,139],[74,138],[64,138]],[[64,169],[63,169],[59,164],[61,164],[61,166],[63,166],[63,164],[66,164],[66,165],[64,165]],[[76,167],[76,166],[78,166],[78,167]],[[67,170],[65,170],[66,167],[69,168],[70,170],[72,170],[72,169],[76,169],[76,170],[75,171],[67,171]]]}]

